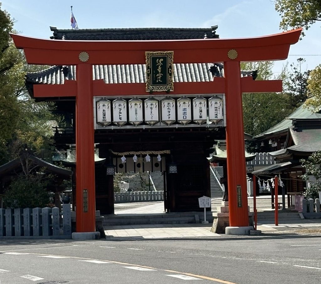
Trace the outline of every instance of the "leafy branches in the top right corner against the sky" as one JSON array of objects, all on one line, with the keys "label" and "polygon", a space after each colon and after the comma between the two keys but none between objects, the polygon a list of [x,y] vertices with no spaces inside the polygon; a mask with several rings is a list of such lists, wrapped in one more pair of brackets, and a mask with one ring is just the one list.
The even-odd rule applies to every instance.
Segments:
[{"label": "leafy branches in the top right corner against the sky", "polygon": [[320,0],[275,0],[274,2],[275,10],[282,17],[280,22],[282,30],[300,27],[308,30],[312,24],[321,21]]}]

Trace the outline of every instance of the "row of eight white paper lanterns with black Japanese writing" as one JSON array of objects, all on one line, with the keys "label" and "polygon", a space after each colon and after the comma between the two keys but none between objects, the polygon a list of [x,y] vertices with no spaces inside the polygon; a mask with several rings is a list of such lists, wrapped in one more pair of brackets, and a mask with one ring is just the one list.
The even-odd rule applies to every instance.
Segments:
[{"label": "row of eight white paper lanterns with black Japanese writing", "polygon": [[[161,121],[167,125],[176,122],[176,112],[179,123],[183,125],[190,123],[192,121],[192,108],[194,122],[201,125],[207,121],[207,99],[198,96],[191,100],[184,96],[177,101],[172,98],[165,98],[161,101],[154,98],[148,98],[144,101],[133,98],[128,101],[128,122],[132,125],[139,125],[143,122],[148,125],[155,125],[159,122],[159,102]],[[223,100],[221,98],[214,96],[208,99],[208,106],[209,121],[216,124],[223,120]],[[113,108],[112,118],[111,108]],[[96,102],[96,109],[97,124],[101,126],[107,126],[112,122],[119,126],[127,123],[127,101],[125,99],[118,98],[111,102],[106,98],[102,98]]]}]

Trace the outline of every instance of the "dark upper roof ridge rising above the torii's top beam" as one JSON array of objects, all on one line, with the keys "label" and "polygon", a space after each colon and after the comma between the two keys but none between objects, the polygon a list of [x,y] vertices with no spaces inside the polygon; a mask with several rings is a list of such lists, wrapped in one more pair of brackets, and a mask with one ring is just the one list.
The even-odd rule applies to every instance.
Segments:
[{"label": "dark upper roof ridge rising above the torii's top beam", "polygon": [[164,40],[164,39],[218,39],[218,26],[211,28],[131,28],[131,29],[81,29],[53,31],[51,39],[67,40]]}]

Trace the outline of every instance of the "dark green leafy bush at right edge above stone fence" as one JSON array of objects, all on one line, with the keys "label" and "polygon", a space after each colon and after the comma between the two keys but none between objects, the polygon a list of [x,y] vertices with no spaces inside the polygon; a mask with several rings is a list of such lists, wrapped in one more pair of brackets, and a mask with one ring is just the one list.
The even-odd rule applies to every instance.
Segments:
[{"label": "dark green leafy bush at right edge above stone fence", "polygon": [[301,176],[303,180],[307,181],[304,196],[316,199],[319,197],[318,192],[321,191],[321,151],[314,152],[308,159],[302,159],[300,162],[306,168],[306,174]]}]

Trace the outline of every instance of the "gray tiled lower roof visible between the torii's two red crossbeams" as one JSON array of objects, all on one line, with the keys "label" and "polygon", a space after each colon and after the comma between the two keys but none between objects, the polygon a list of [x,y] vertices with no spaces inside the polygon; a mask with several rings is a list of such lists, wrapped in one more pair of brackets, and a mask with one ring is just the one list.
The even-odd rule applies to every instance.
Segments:
[{"label": "gray tiled lower roof visible between the torii's two red crossbeams", "polygon": [[[65,74],[62,71],[65,68]],[[93,80],[103,79],[105,83],[145,83],[146,65],[93,65]],[[221,63],[173,64],[174,82],[209,82],[223,77]],[[251,76],[252,71],[242,71],[241,76]],[[64,84],[65,79],[76,79],[76,66],[53,66],[37,73],[28,73],[27,81],[43,84]]]}]

